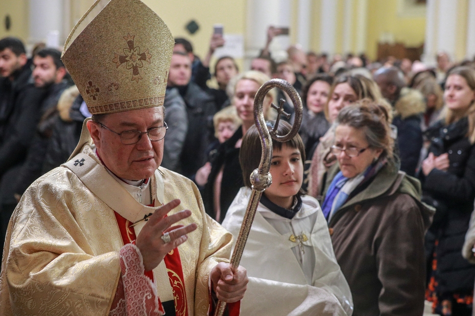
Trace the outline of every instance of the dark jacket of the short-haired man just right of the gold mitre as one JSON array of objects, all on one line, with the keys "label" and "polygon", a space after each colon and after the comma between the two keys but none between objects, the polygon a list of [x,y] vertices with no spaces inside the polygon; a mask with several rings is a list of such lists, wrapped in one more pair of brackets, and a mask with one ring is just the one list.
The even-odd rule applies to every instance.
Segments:
[{"label": "dark jacket of the short-haired man just right of the gold mitre", "polygon": [[186,104],[188,131],[186,133],[180,164],[181,174],[191,178],[206,162],[206,148],[213,138],[212,117],[215,114],[213,98],[198,85],[190,82],[180,94]]}]

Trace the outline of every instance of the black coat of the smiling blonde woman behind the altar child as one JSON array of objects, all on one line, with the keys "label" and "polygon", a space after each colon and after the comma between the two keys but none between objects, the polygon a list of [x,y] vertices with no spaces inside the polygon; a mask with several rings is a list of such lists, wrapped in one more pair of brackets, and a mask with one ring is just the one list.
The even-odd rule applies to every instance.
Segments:
[{"label": "black coat of the smiling blonde woman behind the altar child", "polygon": [[211,163],[211,172],[209,173],[208,182],[204,189],[203,203],[206,213],[213,219],[216,219],[215,205],[213,204],[214,186],[216,177],[221,168],[223,168],[220,195],[220,222],[224,220],[226,212],[229,206],[231,206],[232,200],[234,200],[234,197],[238,194],[239,189],[244,187],[243,171],[239,163],[240,148],[235,148],[236,143],[241,138],[243,138],[243,129],[239,127],[230,139],[219,146],[218,153]]}]

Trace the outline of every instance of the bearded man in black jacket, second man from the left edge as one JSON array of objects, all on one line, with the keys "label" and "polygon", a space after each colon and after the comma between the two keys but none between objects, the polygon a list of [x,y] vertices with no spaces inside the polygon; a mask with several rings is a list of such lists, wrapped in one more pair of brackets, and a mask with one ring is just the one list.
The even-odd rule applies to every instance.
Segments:
[{"label": "bearded man in black jacket, second man from the left edge", "polygon": [[[20,173],[17,175],[14,185],[8,180],[8,186],[13,187],[17,197],[42,173],[44,156],[48,140],[53,133],[53,125],[57,116],[57,105],[63,91],[68,87],[64,80],[66,68],[61,61],[61,52],[55,48],[43,48],[33,56],[33,79],[35,87],[45,90],[45,97],[40,107],[40,122],[36,128],[36,134],[28,150],[27,159]],[[2,181],[5,182],[6,180]],[[2,183],[3,188],[7,183]]]}]

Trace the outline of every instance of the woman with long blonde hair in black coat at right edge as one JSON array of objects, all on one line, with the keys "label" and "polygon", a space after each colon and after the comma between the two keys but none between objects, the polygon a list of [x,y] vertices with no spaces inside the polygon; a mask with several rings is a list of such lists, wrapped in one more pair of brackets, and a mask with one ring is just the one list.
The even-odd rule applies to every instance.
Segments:
[{"label": "woman with long blonde hair in black coat at right edge", "polygon": [[[475,199],[475,70],[447,73],[444,118],[427,130],[431,146],[422,162],[422,189],[437,207],[426,251],[430,257],[427,299],[440,315],[470,315],[475,267],[462,257]],[[466,247],[466,249],[471,248]],[[466,250],[465,249],[465,250]],[[473,254],[465,251],[473,260]]]}]

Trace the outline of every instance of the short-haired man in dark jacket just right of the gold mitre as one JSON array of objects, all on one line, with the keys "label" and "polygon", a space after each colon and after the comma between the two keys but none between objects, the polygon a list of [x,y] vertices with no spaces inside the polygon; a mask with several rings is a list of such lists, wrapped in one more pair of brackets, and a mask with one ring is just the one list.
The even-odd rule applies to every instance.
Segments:
[{"label": "short-haired man in dark jacket just right of the gold mitre", "polygon": [[180,173],[192,177],[206,162],[206,148],[212,138],[213,98],[190,81],[191,60],[187,54],[175,51],[172,56],[168,87],[176,87],[186,104],[188,131],[181,152]]}]

